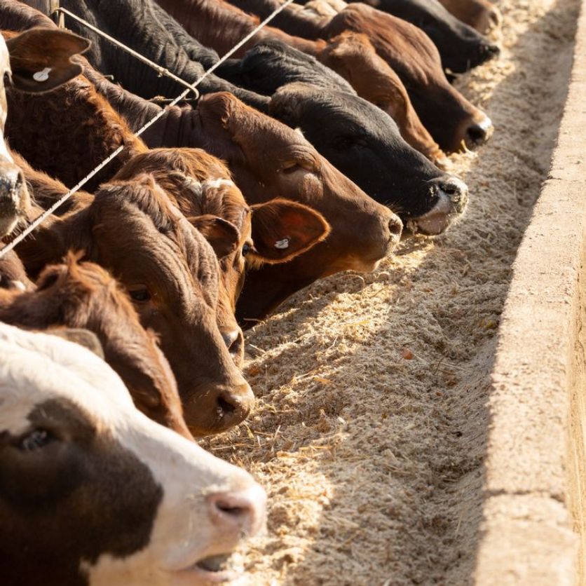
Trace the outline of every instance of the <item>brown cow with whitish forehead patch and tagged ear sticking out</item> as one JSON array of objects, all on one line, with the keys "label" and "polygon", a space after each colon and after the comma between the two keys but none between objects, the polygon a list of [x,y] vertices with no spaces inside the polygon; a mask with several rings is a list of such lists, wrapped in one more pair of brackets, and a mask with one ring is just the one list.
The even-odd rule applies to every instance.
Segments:
[{"label": "brown cow with whitish forehead patch and tagged ear sticking out", "polygon": [[142,172],[153,175],[214,248],[222,275],[220,332],[236,364],[242,364],[243,335],[234,312],[245,265],[297,257],[327,237],[327,222],[311,208],[285,199],[247,205],[226,166],[201,149],[153,149],[130,159],[114,179],[132,179]]}]

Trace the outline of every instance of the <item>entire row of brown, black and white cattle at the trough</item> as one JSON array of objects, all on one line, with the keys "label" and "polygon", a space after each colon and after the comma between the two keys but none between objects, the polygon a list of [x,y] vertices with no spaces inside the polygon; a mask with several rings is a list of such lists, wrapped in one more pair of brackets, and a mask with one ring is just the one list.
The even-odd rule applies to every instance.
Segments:
[{"label": "entire row of brown, black and white cattle at the trough", "polygon": [[[29,4],[31,4],[29,2]],[[447,155],[490,118],[451,85],[498,54],[487,0],[0,0],[0,581],[225,582],[264,525],[194,437],[254,409],[243,329],[403,236],[444,232]],[[83,55],[82,55],[83,54]],[[135,132],[160,116],[141,137]]]}]

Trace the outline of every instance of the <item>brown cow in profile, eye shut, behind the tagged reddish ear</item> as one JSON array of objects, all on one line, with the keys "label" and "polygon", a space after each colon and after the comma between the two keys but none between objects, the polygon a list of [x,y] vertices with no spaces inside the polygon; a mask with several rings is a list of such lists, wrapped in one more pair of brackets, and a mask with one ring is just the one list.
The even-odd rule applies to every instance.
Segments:
[{"label": "brown cow in profile, eye shut, behind the tagged reddish ear", "polygon": [[[130,105],[131,117],[142,118],[139,102],[124,103]],[[248,203],[292,199],[311,205],[331,226],[325,242],[287,264],[249,271],[247,278],[256,273],[264,288],[257,290],[254,315],[247,317],[264,317],[323,276],[348,269],[372,271],[400,238],[400,219],[388,207],[341,175],[298,132],[230,94],[206,95],[195,111],[168,109],[145,139],[152,147],[203,147],[228,163]],[[247,285],[243,294],[246,290]]]}]

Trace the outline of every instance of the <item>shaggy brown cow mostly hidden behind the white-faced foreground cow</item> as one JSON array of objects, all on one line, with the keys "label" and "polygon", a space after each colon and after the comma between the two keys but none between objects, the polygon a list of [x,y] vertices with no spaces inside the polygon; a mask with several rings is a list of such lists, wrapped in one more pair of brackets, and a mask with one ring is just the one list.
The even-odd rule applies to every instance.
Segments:
[{"label": "shaggy brown cow mostly hidden behind the white-faced foreground cow", "polygon": [[0,322],[27,329],[86,329],[100,341],[104,360],[130,390],[132,400],[154,421],[191,439],[177,384],[152,332],[116,280],[93,263],[69,254],[47,266],[29,292],[0,291]]}]

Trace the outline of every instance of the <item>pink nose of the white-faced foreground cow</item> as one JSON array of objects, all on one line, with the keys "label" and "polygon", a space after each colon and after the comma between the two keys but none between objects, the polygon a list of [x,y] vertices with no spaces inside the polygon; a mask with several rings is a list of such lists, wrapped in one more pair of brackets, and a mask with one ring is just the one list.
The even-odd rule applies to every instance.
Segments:
[{"label": "pink nose of the white-faced foreground cow", "polygon": [[266,522],[266,493],[259,484],[241,491],[207,496],[210,517],[218,529],[253,536]]}]

